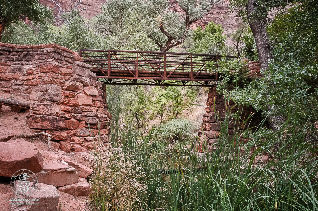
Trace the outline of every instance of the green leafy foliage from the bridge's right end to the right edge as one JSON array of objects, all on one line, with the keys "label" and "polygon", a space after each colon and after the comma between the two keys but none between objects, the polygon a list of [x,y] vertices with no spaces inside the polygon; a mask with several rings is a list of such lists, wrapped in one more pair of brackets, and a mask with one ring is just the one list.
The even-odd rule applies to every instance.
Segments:
[{"label": "green leafy foliage from the bridge's right end to the right edge", "polygon": [[234,59],[222,59],[218,62],[218,69],[215,69],[214,62],[207,67],[223,74],[217,91],[226,100],[252,105],[264,115],[270,111],[271,115],[285,116],[297,108],[299,112],[291,115],[291,120],[301,126],[312,116],[310,126],[313,129],[318,120],[318,65],[302,66],[282,46],[277,46],[273,52],[269,70],[262,72],[264,77],[252,81],[246,78],[245,63]]}]

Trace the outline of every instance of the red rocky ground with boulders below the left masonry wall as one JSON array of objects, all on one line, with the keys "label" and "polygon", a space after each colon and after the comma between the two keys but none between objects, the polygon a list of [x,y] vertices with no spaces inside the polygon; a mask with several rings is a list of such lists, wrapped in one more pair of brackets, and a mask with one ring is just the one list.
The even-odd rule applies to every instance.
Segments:
[{"label": "red rocky ground with boulders below the left masonry wall", "polygon": [[[86,200],[92,187],[88,181],[93,174],[93,155],[65,153],[55,149],[54,145],[49,148],[45,136],[20,138],[17,135],[31,133],[25,124],[25,113],[15,113],[2,106],[0,114],[0,209],[90,210]],[[38,180],[37,189],[29,196],[17,195],[10,186],[11,176],[21,169],[32,171]],[[20,197],[39,199],[39,203],[10,205],[10,199]]]}]

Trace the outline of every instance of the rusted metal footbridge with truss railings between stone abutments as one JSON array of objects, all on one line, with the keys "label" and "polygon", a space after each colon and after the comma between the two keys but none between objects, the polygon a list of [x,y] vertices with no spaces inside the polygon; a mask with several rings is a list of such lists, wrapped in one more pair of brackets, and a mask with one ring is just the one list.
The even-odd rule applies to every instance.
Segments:
[{"label": "rusted metal footbridge with truss railings between stone abutments", "polygon": [[[205,64],[221,55],[132,50],[80,49],[84,62],[107,84],[213,86],[218,73]],[[227,56],[234,58],[234,56]]]}]

